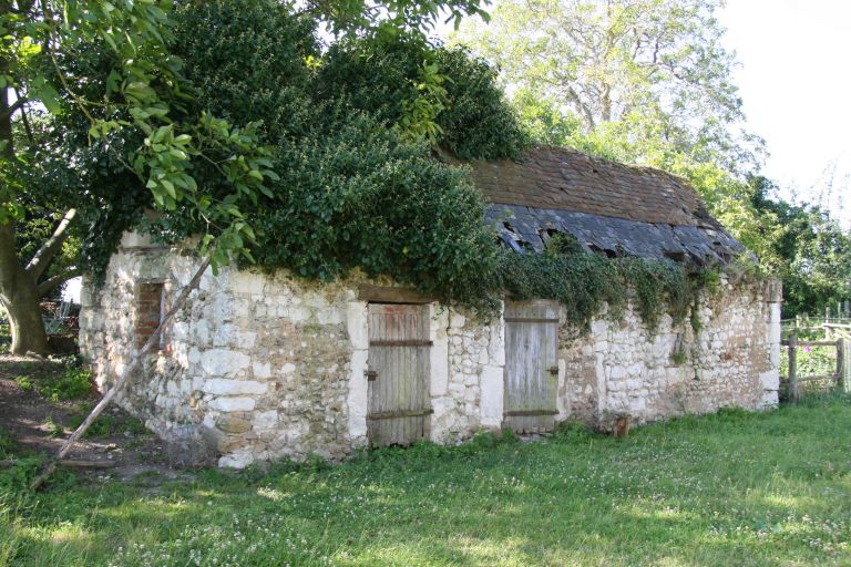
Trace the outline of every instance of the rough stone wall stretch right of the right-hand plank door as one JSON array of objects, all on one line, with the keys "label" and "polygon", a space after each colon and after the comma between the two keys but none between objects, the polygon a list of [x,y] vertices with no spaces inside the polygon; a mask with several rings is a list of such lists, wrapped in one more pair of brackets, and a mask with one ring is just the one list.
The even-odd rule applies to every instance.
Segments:
[{"label": "rough stone wall stretch right of the right-hand plank door", "polygon": [[732,284],[703,293],[675,324],[663,316],[652,334],[629,306],[621,321],[601,316],[587,336],[562,331],[562,419],[606,427],[616,415],[642,423],[719,408],[777,405],[780,293],[776,282]]}]

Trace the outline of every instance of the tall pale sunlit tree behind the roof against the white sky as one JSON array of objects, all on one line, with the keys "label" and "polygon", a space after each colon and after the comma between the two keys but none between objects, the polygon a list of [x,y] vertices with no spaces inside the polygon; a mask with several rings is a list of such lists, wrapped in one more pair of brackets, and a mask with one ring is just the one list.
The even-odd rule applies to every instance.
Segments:
[{"label": "tall pale sunlit tree behind the roof against the white sky", "polygon": [[[459,39],[499,64],[526,102],[548,102],[580,134],[658,138],[730,171],[752,165],[722,0],[503,0]],[[611,132],[609,132],[611,131]],[[633,156],[646,161],[639,150]],[[629,157],[629,156],[622,156]]]}]

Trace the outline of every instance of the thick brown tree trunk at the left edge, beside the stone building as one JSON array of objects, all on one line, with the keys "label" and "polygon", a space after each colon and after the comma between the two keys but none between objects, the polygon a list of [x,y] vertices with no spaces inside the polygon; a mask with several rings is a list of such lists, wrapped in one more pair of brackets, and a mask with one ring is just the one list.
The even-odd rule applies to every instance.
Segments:
[{"label": "thick brown tree trunk at the left edge, beside the stone building", "polygon": [[23,269],[14,247],[14,228],[0,226],[0,301],[9,315],[13,354],[34,352],[47,354],[48,334],[41,318],[40,297],[35,282]]}]

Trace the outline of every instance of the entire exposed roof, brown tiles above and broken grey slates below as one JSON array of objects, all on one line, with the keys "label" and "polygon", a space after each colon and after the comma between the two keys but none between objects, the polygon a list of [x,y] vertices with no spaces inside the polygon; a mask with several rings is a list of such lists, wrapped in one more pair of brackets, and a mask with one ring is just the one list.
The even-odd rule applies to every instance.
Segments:
[{"label": "entire exposed roof, brown tiles above and broken grey slates below", "polygon": [[745,251],[685,181],[659,169],[535,147],[516,162],[469,162],[511,249],[542,251],[555,233],[606,256],[724,265]]}]

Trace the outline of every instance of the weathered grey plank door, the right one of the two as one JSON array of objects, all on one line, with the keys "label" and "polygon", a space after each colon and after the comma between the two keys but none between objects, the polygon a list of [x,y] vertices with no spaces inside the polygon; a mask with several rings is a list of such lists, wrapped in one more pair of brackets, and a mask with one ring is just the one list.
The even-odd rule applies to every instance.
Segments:
[{"label": "weathered grey plank door, the right one of the two", "polygon": [[558,382],[558,308],[551,301],[505,303],[503,426],[551,431]]}]

